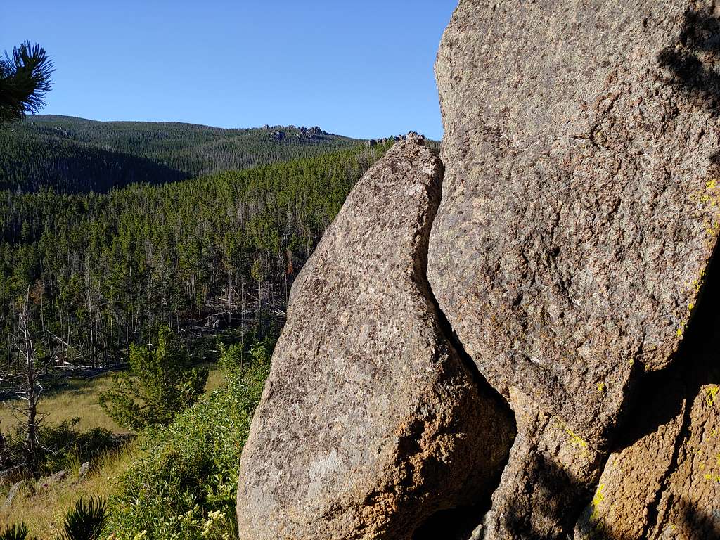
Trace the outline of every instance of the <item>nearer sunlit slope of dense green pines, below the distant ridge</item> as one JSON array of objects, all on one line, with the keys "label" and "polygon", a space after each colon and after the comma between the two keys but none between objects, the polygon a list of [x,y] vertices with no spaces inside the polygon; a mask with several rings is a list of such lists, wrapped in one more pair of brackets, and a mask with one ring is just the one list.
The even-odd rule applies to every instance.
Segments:
[{"label": "nearer sunlit slope of dense green pines, below the distant ridge", "polygon": [[55,363],[112,363],[160,324],[282,316],[294,275],[389,144],[107,194],[0,192],[1,358],[28,289],[39,354]]}]

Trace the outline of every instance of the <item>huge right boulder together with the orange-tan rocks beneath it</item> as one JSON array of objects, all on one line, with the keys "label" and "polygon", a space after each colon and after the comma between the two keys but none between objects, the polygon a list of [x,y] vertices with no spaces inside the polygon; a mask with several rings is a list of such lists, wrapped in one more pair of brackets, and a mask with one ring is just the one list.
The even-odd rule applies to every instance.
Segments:
[{"label": "huge right boulder together with the orange-tan rocks beneath it", "polygon": [[719,13],[461,0],[444,34],[428,280],[518,417],[486,539],[714,537],[717,381],[645,372],[702,356],[678,348],[719,230]]}]

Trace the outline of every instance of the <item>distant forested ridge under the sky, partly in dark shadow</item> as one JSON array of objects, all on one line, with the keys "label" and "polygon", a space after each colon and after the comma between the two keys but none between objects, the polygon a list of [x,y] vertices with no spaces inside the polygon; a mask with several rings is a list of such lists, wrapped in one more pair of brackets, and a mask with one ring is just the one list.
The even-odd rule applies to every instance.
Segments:
[{"label": "distant forested ridge under the sky, partly in dark shadow", "polygon": [[352,148],[319,128],[222,129],[37,115],[0,131],[0,189],[107,192]]}]

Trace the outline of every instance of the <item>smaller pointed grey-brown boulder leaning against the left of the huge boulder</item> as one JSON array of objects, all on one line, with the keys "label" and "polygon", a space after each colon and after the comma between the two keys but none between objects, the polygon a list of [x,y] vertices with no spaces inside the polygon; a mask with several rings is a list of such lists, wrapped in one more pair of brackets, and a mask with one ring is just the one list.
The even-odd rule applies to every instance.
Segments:
[{"label": "smaller pointed grey-brown boulder leaning against the left of the huge boulder", "polygon": [[292,287],[243,451],[240,539],[410,539],[489,496],[513,421],[426,282],[442,167],[415,138],[355,186]]}]

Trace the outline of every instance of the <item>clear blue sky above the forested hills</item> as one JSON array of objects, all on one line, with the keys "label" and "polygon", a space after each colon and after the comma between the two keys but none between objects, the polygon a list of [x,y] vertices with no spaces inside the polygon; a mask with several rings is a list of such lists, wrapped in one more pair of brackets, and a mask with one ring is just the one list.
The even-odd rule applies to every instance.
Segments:
[{"label": "clear blue sky above the forested hills", "polygon": [[440,138],[433,63],[456,0],[35,0],[0,49],[55,60],[47,114]]}]

